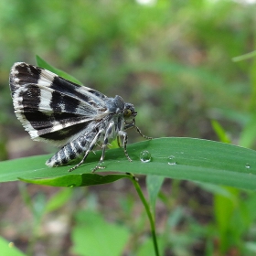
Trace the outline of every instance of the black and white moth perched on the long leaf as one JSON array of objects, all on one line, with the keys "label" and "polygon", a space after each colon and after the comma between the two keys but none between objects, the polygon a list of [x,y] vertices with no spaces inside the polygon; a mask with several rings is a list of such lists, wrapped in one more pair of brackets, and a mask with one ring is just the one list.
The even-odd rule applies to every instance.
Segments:
[{"label": "black and white moth perched on the long leaf", "polygon": [[24,62],[16,62],[10,72],[10,89],[17,119],[35,141],[59,146],[46,165],[68,165],[82,156],[73,171],[84,163],[97,144],[101,144],[101,159],[93,172],[102,168],[105,150],[112,140],[123,137],[126,150],[126,131],[135,128],[137,112],[133,104],[121,96],[109,98],[89,87],[65,80],[53,72]]}]

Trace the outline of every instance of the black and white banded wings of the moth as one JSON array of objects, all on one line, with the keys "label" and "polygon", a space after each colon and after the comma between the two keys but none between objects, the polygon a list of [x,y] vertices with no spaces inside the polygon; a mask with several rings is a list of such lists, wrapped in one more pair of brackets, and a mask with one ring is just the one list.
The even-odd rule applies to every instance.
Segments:
[{"label": "black and white banded wings of the moth", "polygon": [[101,92],[24,62],[12,67],[10,88],[16,117],[36,141],[67,144],[106,110]]}]

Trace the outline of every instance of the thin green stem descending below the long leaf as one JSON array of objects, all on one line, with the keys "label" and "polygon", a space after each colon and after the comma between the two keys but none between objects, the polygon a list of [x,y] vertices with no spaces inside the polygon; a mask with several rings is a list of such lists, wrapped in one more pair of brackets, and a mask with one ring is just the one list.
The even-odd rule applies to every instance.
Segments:
[{"label": "thin green stem descending below the long leaf", "polygon": [[130,178],[133,181],[133,185],[134,185],[139,197],[141,198],[141,200],[144,204],[144,208],[145,208],[146,214],[147,214],[149,222],[150,222],[152,240],[153,240],[154,249],[155,249],[155,256],[159,256],[160,254],[159,254],[159,251],[158,251],[158,245],[157,245],[156,234],[155,234],[155,219],[154,219],[154,217],[151,213],[150,207],[149,207],[149,205],[148,205],[148,203],[147,203],[147,201],[144,197],[143,191],[142,191],[137,179],[132,174],[131,174]]}]

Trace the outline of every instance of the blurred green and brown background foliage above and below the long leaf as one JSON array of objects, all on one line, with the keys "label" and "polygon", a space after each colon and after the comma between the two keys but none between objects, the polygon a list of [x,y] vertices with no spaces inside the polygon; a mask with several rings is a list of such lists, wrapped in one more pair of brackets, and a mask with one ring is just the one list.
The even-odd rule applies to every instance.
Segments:
[{"label": "blurred green and brown background foliage above and below the long leaf", "polygon": [[[137,125],[145,134],[213,140],[225,134],[222,138],[228,138],[226,142],[255,149],[256,62],[255,59],[233,62],[232,58],[255,49],[256,5],[210,0],[139,3],[129,0],[0,2],[1,160],[55,150],[30,141],[13,113],[7,85],[13,63],[35,64],[37,54],[86,86],[133,102],[138,112]],[[212,128],[211,119],[217,120],[222,130],[216,123]],[[135,133],[129,134],[130,142],[141,140]],[[80,253],[79,232],[70,223],[72,219],[80,223],[81,211],[92,208],[104,212],[106,219],[117,219],[130,227],[133,238],[125,243],[126,250],[143,255],[139,254],[147,246],[143,236],[146,231],[143,208],[138,207],[133,192],[127,195],[126,183],[116,184],[111,188],[98,186],[97,191],[96,188],[75,189],[71,196],[64,197],[69,203],[57,204],[47,218],[38,215],[37,202],[42,205],[57,190],[28,186],[19,188],[23,192],[17,193],[16,183],[8,187],[0,185],[1,235],[16,240],[23,251],[56,255],[62,250],[61,245],[66,244],[66,252],[61,251],[65,255],[72,241],[77,245],[72,251]],[[252,250],[255,217],[250,209],[256,200],[253,193],[226,188],[218,188],[217,193],[216,187],[215,190],[212,187],[198,190],[198,187],[202,186],[176,181],[172,186],[170,181],[164,184],[156,218],[168,220],[167,224],[159,221],[158,227],[163,234],[165,255],[199,255],[198,248],[208,255],[217,248],[221,253]],[[212,193],[219,196],[212,197]],[[18,195],[23,195],[27,207]],[[109,200],[112,197],[115,199]],[[114,213],[112,207],[117,208]],[[23,214],[17,208],[24,208]],[[239,223],[236,228],[240,229],[232,228],[231,219]],[[68,223],[64,229],[56,231],[64,222]],[[54,229],[50,228],[53,223]],[[31,237],[37,242],[34,239],[28,242],[27,230],[32,230]],[[180,230],[183,232],[177,235]],[[126,238],[126,232],[123,233]],[[48,237],[56,238],[54,247],[49,246]],[[241,237],[245,238],[244,242]],[[138,238],[144,239],[144,248]]]}]

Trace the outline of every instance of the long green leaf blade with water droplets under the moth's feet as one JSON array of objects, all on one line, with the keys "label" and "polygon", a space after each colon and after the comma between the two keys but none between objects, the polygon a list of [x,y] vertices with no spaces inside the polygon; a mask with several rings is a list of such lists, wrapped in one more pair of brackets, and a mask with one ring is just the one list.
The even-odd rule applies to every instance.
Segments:
[{"label": "long green leaf blade with water droplets under the moth's feet", "polygon": [[[160,138],[130,144],[127,150],[133,162],[126,159],[122,148],[107,150],[103,164],[105,169],[101,172],[130,172],[245,189],[256,188],[256,151],[248,148],[193,138]],[[140,153],[144,150],[152,155],[151,162],[140,161]],[[18,177],[36,179],[59,176],[68,178],[72,185],[70,179],[76,175],[91,174],[91,169],[98,164],[101,151],[89,155],[86,163],[72,173],[68,173],[69,166],[48,168],[44,163],[49,156],[39,155],[0,163],[0,182],[17,180]],[[89,176],[80,176],[80,181],[86,182],[84,179],[87,178]]]}]

